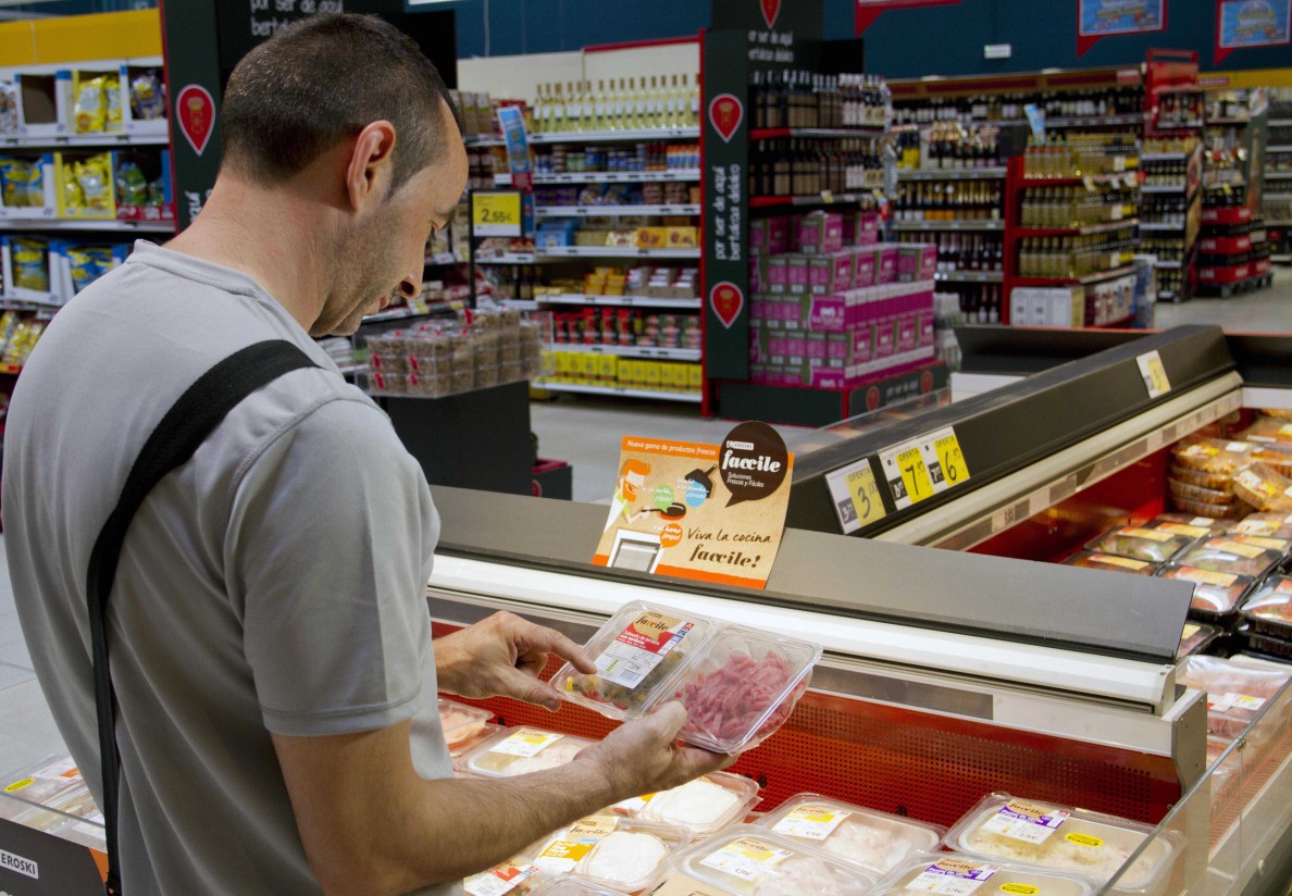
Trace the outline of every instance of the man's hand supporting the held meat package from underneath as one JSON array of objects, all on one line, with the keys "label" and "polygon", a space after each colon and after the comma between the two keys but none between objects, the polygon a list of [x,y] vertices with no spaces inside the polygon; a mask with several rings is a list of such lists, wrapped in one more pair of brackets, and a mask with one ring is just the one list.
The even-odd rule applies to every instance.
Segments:
[{"label": "man's hand supporting the held meat package from underneath", "polygon": [[681,786],[726,768],[739,757],[711,753],[677,740],[686,724],[686,708],[673,701],[640,719],[625,722],[605,740],[580,753],[576,763],[598,766],[597,775],[618,794],[615,802]]}]

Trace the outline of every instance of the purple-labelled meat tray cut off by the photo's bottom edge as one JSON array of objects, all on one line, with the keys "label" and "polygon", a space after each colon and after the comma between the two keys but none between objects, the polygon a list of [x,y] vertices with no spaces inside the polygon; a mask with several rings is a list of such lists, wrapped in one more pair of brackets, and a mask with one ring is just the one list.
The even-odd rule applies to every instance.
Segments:
[{"label": "purple-labelled meat tray cut off by the photo's bottom edge", "polygon": [[[986,884],[986,886],[985,886]],[[873,896],[925,893],[1026,893],[1026,896],[1088,896],[1088,881],[1062,871],[1040,871],[1023,865],[985,861],[956,852],[912,856],[885,878]]]}]

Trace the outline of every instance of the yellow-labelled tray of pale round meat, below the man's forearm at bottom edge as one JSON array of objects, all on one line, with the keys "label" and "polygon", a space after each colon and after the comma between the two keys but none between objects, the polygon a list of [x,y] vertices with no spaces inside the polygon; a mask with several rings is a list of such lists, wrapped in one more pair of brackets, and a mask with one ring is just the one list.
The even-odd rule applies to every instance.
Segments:
[{"label": "yellow-labelled tray of pale round meat, below the man's forearm at bottom edge", "polygon": [[571,874],[620,892],[640,893],[659,883],[669,856],[689,839],[674,825],[607,813],[562,828],[526,852],[545,874]]}]

